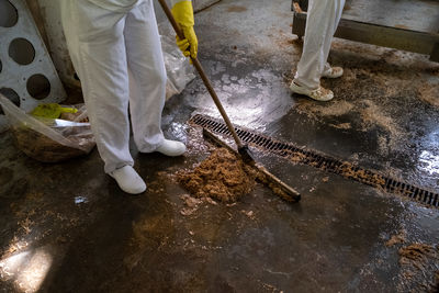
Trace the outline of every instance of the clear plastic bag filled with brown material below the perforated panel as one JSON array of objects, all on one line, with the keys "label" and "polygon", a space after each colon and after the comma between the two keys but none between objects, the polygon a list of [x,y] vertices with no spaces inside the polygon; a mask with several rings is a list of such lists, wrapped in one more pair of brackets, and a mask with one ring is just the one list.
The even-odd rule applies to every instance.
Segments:
[{"label": "clear plastic bag filled with brown material below the perforated panel", "polygon": [[18,147],[27,156],[43,161],[57,162],[89,154],[95,146],[83,105],[75,120],[36,119],[26,114],[9,99],[0,94],[0,104],[8,117]]}]

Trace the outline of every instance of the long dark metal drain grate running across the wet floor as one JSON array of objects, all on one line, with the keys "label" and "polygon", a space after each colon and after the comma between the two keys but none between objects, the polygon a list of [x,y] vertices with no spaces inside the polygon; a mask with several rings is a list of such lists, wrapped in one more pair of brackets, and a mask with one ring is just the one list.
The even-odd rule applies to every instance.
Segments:
[{"label": "long dark metal drain grate running across the wet floor", "polygon": [[[210,116],[198,114],[194,115],[189,122],[217,134],[230,135],[227,126],[223,122]],[[235,129],[243,142],[264,150],[269,150],[270,153],[290,159],[294,162],[313,166],[325,171],[340,174],[347,179],[356,180],[358,182],[382,189],[386,192],[408,196],[415,201],[428,205],[439,206],[438,193],[387,178],[375,171],[353,166],[347,161],[340,161],[311,150],[301,149],[290,143],[283,143],[258,133],[249,132],[241,127],[235,126]]]}]

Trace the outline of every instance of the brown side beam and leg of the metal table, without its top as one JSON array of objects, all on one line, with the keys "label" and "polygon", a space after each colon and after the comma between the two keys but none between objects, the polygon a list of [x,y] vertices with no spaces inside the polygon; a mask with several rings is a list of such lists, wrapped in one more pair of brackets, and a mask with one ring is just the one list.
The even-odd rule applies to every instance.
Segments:
[{"label": "brown side beam and leg of the metal table, without its top", "polygon": [[[303,11],[296,11],[294,2],[299,3]],[[307,0],[292,0],[291,9],[294,12],[292,31],[299,37],[305,35],[307,2]],[[383,47],[426,54],[430,56],[430,60],[439,63],[438,33],[418,32],[341,18],[335,36]]]}]

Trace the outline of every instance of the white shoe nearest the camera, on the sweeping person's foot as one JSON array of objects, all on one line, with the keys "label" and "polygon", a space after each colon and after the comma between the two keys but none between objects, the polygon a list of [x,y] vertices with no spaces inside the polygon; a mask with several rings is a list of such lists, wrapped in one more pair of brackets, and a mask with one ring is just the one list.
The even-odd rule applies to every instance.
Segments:
[{"label": "white shoe nearest the camera, on the sweeping person's foot", "polygon": [[110,176],[116,180],[119,187],[126,193],[139,194],[146,190],[145,181],[131,166],[116,169]]}]

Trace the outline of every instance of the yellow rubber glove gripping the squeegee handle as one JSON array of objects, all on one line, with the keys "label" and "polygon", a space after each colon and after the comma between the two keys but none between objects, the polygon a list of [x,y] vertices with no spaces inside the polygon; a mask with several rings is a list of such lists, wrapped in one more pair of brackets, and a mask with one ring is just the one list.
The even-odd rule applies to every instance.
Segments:
[{"label": "yellow rubber glove gripping the squeegee handle", "polygon": [[191,56],[192,58],[196,58],[199,41],[193,30],[195,21],[193,20],[192,1],[180,1],[172,7],[171,11],[185,37],[184,40],[180,40],[177,36],[177,45],[185,57]]}]

